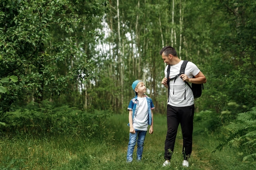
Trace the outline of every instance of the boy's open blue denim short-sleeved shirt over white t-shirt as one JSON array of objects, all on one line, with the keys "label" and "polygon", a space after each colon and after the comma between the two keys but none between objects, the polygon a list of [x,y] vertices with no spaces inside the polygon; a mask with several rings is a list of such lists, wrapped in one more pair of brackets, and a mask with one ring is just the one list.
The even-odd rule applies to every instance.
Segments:
[{"label": "boy's open blue denim short-sleeved shirt over white t-shirt", "polygon": [[[130,103],[129,103],[129,106],[127,108],[127,110],[132,110],[132,123],[136,117],[136,114],[137,114],[137,110],[138,110],[138,106],[139,106],[139,100],[137,99],[137,95],[130,100]],[[154,109],[154,104],[153,104],[153,101],[150,97],[148,97],[147,95],[145,95],[146,99],[147,99],[147,102],[148,102],[148,124],[151,125],[151,121],[152,121],[152,118],[151,118],[151,110]],[[128,124],[128,126],[130,126]]]}]

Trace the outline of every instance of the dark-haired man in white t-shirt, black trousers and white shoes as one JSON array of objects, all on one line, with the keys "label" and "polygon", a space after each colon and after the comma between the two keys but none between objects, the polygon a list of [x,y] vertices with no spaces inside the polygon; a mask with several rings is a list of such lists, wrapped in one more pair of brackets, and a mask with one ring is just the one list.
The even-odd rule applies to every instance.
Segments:
[{"label": "dark-haired man in white t-shirt, black trousers and white shoes", "polygon": [[[180,73],[180,67],[183,60],[177,57],[177,52],[171,46],[165,46],[160,55],[164,60],[164,63],[171,66],[169,78],[175,77]],[[164,73],[165,77],[162,79],[162,84],[166,88],[169,85],[169,96],[167,104],[167,134],[164,146],[164,158],[163,166],[170,165],[170,159],[173,153],[175,138],[177,135],[177,128],[180,124],[183,136],[183,149],[182,154],[184,160],[182,165],[189,166],[189,157],[192,152],[192,133],[193,133],[193,117],[194,117],[194,96],[191,88],[185,83],[202,84],[206,83],[204,74],[198,69],[198,67],[192,62],[188,62],[185,68],[185,73],[177,77],[177,79],[171,80],[167,83],[167,68]],[[194,76],[194,78],[193,78]]]}]

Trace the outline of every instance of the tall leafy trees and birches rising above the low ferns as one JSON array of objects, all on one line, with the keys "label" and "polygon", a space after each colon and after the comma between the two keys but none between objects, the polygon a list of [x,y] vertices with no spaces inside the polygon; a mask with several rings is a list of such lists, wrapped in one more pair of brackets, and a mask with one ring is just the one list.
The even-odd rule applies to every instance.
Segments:
[{"label": "tall leafy trees and birches rising above the low ferns", "polygon": [[[158,52],[167,44],[207,77],[195,102],[198,111],[220,113],[229,102],[251,108],[256,104],[255,8],[248,0],[120,1],[118,35],[116,1],[2,0],[0,79],[13,75],[18,82],[0,83],[0,110],[49,99],[121,112],[133,97],[131,82],[140,78],[156,110],[164,113]],[[245,111],[236,108],[234,113]]]}]

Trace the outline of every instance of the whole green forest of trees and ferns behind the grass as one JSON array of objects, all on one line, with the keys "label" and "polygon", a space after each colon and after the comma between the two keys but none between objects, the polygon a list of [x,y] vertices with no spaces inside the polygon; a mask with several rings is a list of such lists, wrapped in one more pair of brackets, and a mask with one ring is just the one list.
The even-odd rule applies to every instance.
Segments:
[{"label": "whole green forest of trees and ferns behind the grass", "polygon": [[[127,125],[136,79],[164,116],[170,45],[207,78],[195,133],[255,168],[255,14],[253,0],[0,0],[0,155],[13,139],[113,140],[108,120]],[[20,166],[11,155],[0,168]]]}]

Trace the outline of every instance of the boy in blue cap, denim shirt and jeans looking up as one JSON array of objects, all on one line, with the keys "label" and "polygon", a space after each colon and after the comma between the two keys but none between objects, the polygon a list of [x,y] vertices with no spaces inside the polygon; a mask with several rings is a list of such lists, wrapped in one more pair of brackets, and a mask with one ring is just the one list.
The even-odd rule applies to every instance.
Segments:
[{"label": "boy in blue cap, denim shirt and jeans looking up", "polygon": [[[132,89],[135,91],[135,97],[131,99],[128,106],[130,137],[127,149],[127,162],[132,162],[132,154],[137,140],[137,161],[141,160],[144,139],[149,128],[149,134],[153,134],[153,101],[145,95],[146,86],[142,80],[135,80],[132,83]],[[138,139],[137,139],[138,138]]]}]

